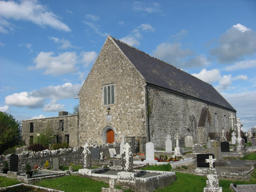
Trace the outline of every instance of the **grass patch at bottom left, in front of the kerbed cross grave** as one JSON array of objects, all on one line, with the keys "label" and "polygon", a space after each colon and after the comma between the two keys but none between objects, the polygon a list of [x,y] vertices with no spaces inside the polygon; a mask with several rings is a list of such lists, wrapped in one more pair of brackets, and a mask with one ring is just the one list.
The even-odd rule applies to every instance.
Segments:
[{"label": "grass patch at bottom left, in front of the kerbed cross grave", "polygon": [[108,187],[104,182],[84,178],[81,176],[69,175],[56,179],[42,180],[34,185],[61,190],[65,192],[100,192],[102,187]]}]

